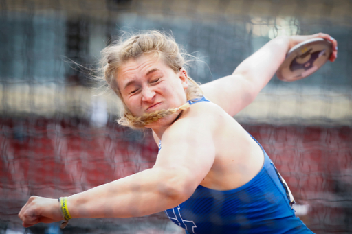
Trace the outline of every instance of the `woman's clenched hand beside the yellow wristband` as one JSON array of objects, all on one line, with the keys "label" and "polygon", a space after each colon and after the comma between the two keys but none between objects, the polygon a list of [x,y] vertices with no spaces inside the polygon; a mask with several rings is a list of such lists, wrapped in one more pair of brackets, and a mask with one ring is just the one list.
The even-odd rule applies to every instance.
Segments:
[{"label": "woman's clenched hand beside the yellow wristband", "polygon": [[23,226],[28,228],[39,222],[51,223],[63,220],[57,199],[31,196],[19,212]]}]

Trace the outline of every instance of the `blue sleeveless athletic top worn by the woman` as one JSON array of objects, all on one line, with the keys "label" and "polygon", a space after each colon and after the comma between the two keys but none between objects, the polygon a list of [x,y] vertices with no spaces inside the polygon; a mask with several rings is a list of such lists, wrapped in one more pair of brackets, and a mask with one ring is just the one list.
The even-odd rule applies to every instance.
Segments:
[{"label": "blue sleeveless athletic top worn by the woman", "polygon": [[[204,97],[189,101],[197,102],[209,101]],[[264,165],[250,182],[228,191],[199,185],[186,202],[165,211],[168,218],[186,233],[312,233],[296,218],[285,181],[261,149]]]}]

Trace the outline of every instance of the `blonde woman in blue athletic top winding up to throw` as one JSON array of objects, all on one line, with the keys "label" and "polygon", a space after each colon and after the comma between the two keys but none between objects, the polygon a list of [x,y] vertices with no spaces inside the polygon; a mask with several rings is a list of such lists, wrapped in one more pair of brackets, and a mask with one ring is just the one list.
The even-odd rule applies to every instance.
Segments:
[{"label": "blonde woman in blue athletic top winding up to throw", "polygon": [[146,31],[102,51],[103,78],[120,97],[119,120],[151,128],[151,169],[58,199],[32,196],[28,227],[70,218],[135,217],[165,211],[186,233],[311,233],[296,217],[285,181],[233,116],[270,81],[294,45],[327,34],[278,36],[232,75],[198,86],[172,36]]}]

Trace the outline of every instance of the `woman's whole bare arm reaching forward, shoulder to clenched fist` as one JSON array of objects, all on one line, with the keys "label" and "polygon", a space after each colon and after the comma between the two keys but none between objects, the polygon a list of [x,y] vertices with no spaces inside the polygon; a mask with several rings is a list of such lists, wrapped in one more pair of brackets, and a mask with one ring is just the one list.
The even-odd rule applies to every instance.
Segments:
[{"label": "woman's whole bare arm reaching forward, shoulder to clenched fist", "polygon": [[[67,198],[72,218],[136,217],[176,207],[187,200],[214,162],[210,126],[214,115],[179,119],[163,134],[153,168],[114,180]],[[57,199],[33,196],[19,218],[28,227],[63,217]]]}]

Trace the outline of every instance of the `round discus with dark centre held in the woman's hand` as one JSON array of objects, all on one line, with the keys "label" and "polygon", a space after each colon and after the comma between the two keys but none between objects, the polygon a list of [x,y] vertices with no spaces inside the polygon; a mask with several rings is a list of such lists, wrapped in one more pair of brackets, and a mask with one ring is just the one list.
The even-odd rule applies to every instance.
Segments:
[{"label": "round discus with dark centre held in the woman's hand", "polygon": [[332,43],[328,40],[323,38],[306,40],[289,50],[276,75],[286,82],[306,78],[325,65],[332,51]]}]

